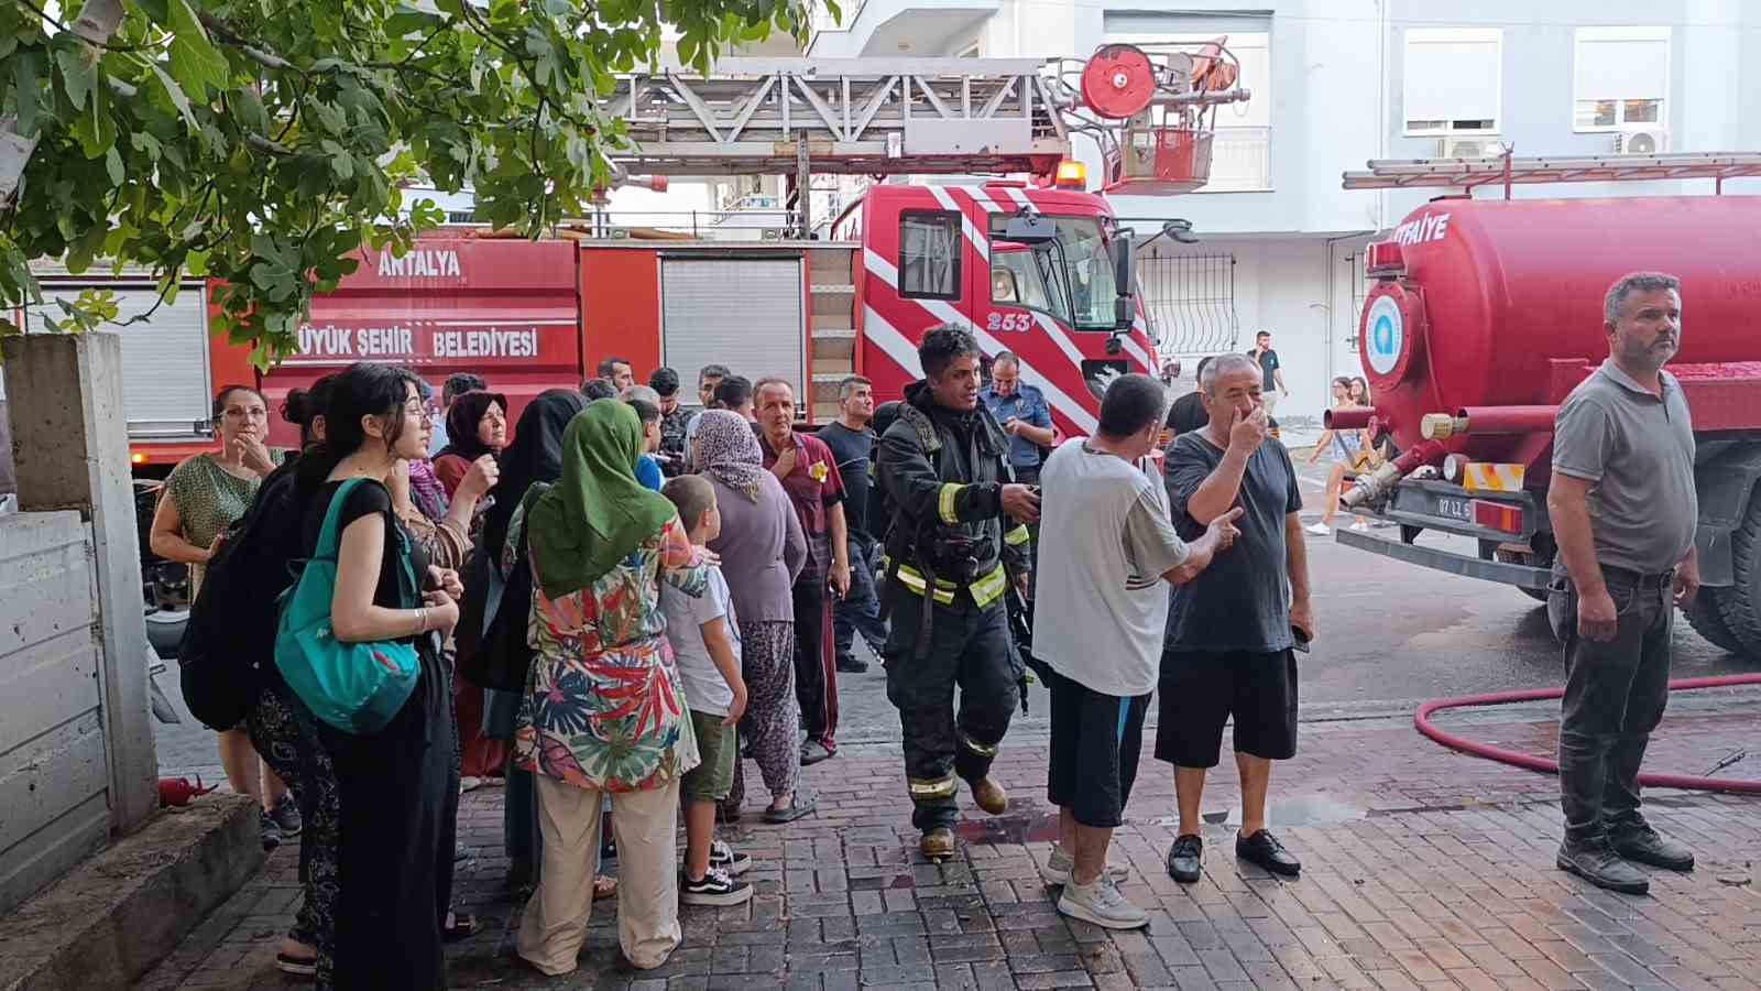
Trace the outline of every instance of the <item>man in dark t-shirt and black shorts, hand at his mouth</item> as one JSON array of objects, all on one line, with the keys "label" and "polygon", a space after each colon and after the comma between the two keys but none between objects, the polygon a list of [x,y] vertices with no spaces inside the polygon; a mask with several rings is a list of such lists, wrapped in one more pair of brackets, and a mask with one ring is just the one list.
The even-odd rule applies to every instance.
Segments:
[{"label": "man in dark t-shirt and black shorts, hand at his mouth", "polygon": [[[1175,529],[1194,541],[1242,506],[1234,550],[1171,592],[1157,684],[1155,756],[1175,765],[1180,831],[1168,873],[1199,880],[1205,772],[1217,765],[1224,723],[1234,718],[1242,774],[1242,831],[1234,853],[1277,875],[1301,862],[1266,829],[1271,762],[1296,756],[1296,635],[1314,638],[1303,496],[1291,455],[1270,434],[1259,365],[1220,354],[1199,376],[1210,421],[1168,448]],[[1289,589],[1289,598],[1286,598]]]}]

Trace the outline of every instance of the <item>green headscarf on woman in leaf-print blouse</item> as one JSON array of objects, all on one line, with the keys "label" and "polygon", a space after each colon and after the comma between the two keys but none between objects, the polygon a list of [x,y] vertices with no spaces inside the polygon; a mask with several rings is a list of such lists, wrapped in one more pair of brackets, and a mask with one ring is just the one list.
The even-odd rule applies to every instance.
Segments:
[{"label": "green headscarf on woman in leaf-print blouse", "polygon": [[627,402],[593,402],[562,436],[562,478],[527,518],[539,585],[578,592],[660,533],[676,511],[636,481],[643,421]]}]

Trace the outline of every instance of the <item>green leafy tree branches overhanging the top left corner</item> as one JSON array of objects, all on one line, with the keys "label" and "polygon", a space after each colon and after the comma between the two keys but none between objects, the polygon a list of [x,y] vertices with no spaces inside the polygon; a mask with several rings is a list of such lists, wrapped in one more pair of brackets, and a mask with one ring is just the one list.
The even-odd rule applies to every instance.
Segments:
[{"label": "green leafy tree branches overhanging the top left corner", "polygon": [[[67,11],[77,0],[63,0]],[[109,46],[0,2],[0,104],[37,150],[0,227],[0,312],[32,259],[217,279],[217,330],[268,363],[363,245],[446,222],[400,190],[472,189],[542,236],[588,213],[627,146],[599,97],[657,62],[662,23],[708,71],[803,30],[803,0],[125,0]],[[56,319],[97,326],[102,300]],[[0,328],[4,330],[4,328]]]}]

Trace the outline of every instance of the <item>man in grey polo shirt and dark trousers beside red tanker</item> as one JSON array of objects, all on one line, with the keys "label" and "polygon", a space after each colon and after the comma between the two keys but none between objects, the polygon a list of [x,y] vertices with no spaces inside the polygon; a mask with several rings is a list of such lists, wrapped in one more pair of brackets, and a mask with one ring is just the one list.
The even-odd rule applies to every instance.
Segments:
[{"label": "man in grey polo shirt and dark trousers beside red tanker", "polygon": [[1558,866],[1629,894],[1650,889],[1634,862],[1694,868],[1639,815],[1638,783],[1669,700],[1675,608],[1699,589],[1694,425],[1662,370],[1682,344],[1680,286],[1638,272],[1608,289],[1608,361],[1558,407],[1548,488],[1560,561],[1548,614],[1566,642]]}]

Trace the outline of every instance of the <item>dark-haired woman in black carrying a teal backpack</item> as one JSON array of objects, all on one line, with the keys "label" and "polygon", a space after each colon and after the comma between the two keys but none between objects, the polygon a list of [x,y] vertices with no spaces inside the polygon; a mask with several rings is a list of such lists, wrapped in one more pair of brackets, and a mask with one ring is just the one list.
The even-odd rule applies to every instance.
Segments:
[{"label": "dark-haired woman in black carrying a teal backpack", "polygon": [[[430,568],[386,487],[400,460],[428,451],[416,376],[350,367],[335,379],[324,428],[298,469],[308,563],[276,640],[276,667],[315,716],[340,795],[335,954],[321,956],[317,980],[444,989],[458,772],[437,635],[458,622],[460,589],[456,573]],[[375,691],[350,698],[361,665],[382,670],[366,679]]]}]

